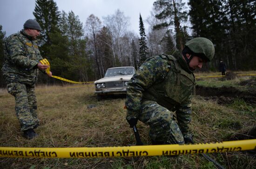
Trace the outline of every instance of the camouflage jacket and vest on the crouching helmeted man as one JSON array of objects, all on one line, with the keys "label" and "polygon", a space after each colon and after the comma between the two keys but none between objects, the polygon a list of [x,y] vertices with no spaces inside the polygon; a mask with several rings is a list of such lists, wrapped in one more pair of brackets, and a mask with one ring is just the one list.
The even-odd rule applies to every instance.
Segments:
[{"label": "camouflage jacket and vest on the crouching helmeted man", "polygon": [[153,100],[168,110],[176,111],[182,133],[187,134],[195,76],[179,52],[175,52],[174,56],[149,58],[136,71],[128,83],[127,115],[138,117],[141,101]]}]

